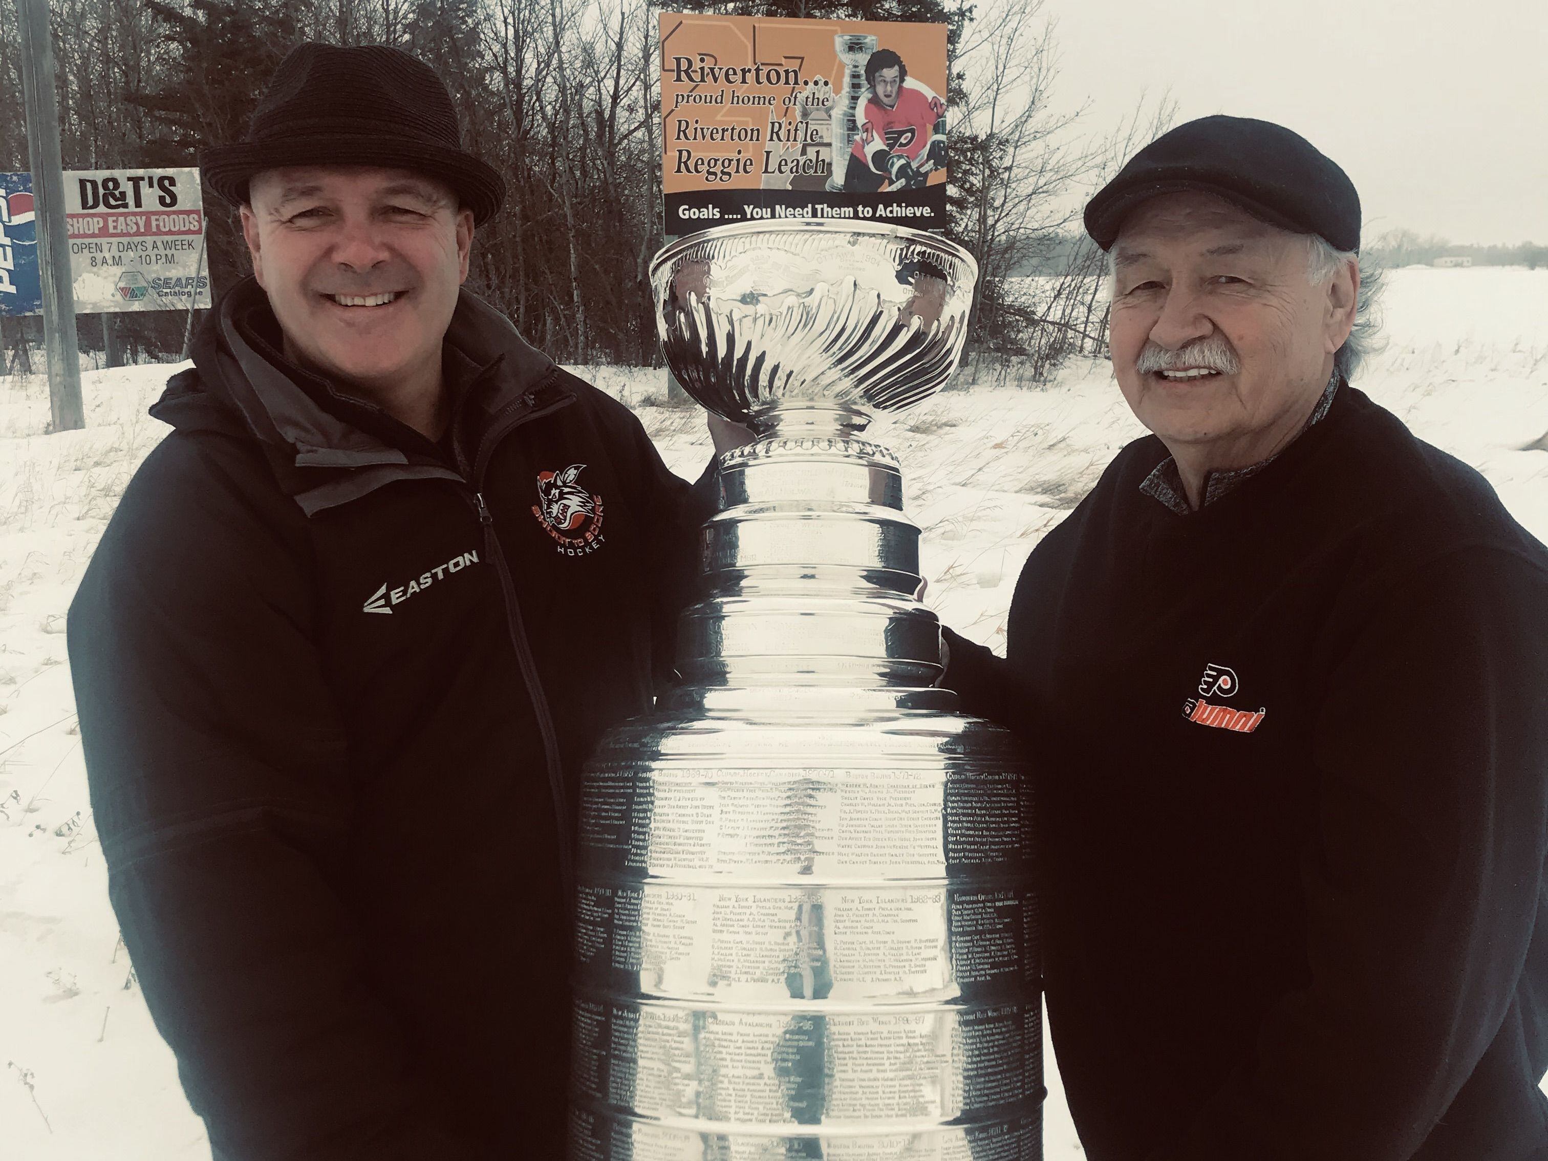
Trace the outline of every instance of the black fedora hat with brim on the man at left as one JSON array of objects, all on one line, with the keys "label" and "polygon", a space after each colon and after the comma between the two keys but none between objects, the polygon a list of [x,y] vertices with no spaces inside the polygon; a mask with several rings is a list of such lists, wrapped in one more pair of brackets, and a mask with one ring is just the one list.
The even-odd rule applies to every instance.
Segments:
[{"label": "black fedora hat with brim on the man at left", "polygon": [[412,169],[457,190],[474,224],[505,200],[505,180],[463,150],[441,79],[385,45],[299,45],[274,70],[248,136],[200,150],[204,183],[237,206],[254,173],[280,166]]}]

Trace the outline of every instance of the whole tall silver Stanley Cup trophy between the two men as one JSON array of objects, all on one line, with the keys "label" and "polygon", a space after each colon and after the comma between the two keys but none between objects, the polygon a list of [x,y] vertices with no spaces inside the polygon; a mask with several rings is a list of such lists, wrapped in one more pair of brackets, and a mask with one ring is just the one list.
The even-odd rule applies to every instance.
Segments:
[{"label": "whole tall silver Stanley Cup trophy between the two men", "polygon": [[681,683],[580,796],[576,1161],[1037,1161],[1031,799],[937,689],[920,529],[862,432],[961,354],[977,266],[898,226],[663,249],[666,358],[720,460]]}]

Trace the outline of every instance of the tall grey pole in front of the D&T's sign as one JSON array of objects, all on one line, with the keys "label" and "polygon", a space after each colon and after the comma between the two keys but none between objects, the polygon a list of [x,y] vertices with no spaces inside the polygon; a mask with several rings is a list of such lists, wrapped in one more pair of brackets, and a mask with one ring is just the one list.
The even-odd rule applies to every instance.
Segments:
[{"label": "tall grey pole in front of the D&T's sign", "polygon": [[54,43],[48,0],[15,0],[22,28],[22,96],[26,105],[26,155],[33,167],[37,211],[37,269],[43,286],[43,345],[48,353],[51,432],[85,427],[80,406],[80,353],[76,348],[76,299],[65,224],[65,175],[59,155],[59,102],[54,98]]}]

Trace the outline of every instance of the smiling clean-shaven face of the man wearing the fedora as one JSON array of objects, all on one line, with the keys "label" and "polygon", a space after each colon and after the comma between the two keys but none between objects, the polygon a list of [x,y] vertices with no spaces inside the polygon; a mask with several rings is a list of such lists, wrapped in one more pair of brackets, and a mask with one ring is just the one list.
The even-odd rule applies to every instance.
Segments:
[{"label": "smiling clean-shaven face of the man wearing the fedora", "polygon": [[241,229],[289,358],[372,395],[437,381],[474,234],[449,187],[401,169],[294,166],[257,173],[249,195]]}]

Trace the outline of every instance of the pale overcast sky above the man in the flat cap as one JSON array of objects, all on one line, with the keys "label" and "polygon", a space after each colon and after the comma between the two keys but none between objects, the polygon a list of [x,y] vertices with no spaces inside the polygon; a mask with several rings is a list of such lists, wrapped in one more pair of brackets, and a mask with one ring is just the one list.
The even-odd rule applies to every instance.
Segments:
[{"label": "pale overcast sky above the man in the flat cap", "polygon": [[1046,0],[1059,104],[1091,130],[1170,88],[1178,121],[1286,125],[1354,181],[1364,238],[1548,243],[1543,0]]}]

